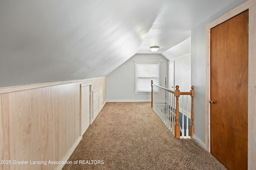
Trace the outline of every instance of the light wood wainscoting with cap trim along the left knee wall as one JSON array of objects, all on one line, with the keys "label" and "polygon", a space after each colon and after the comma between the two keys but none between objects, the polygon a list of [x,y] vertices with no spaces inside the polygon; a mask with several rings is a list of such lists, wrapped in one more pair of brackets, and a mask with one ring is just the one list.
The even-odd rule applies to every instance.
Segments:
[{"label": "light wood wainscoting with cap trim along the left knee wall", "polygon": [[64,166],[49,161],[68,160],[82,139],[80,84],[87,82],[92,83],[92,90],[103,87],[105,104],[106,77],[0,88],[1,170]]}]

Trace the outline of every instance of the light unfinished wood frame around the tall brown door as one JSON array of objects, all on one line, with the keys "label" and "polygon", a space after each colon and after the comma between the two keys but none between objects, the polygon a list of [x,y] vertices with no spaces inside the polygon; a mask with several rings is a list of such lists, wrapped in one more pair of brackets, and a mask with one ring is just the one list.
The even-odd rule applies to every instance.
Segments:
[{"label": "light unfinished wood frame around the tall brown door", "polygon": [[[253,169],[256,167],[256,107],[254,104],[256,103],[256,80],[254,78],[254,74],[256,73],[256,67],[254,63],[256,63],[256,31],[252,31],[256,29],[256,0],[248,0],[241,4],[240,6],[234,8],[230,12],[224,14],[220,18],[212,21],[208,25],[206,25],[206,144],[205,149],[210,152],[210,30],[223,23],[234,16],[249,10],[249,53],[248,53],[248,169]],[[250,31],[251,30],[251,31]]]}]

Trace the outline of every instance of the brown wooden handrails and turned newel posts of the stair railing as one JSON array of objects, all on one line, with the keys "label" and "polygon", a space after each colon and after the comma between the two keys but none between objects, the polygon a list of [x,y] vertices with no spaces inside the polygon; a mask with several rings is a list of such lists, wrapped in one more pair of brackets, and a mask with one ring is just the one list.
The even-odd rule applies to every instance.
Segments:
[{"label": "brown wooden handrails and turned newel posts of the stair railing", "polygon": [[[172,91],[170,89],[158,86],[153,84],[153,80],[151,80],[151,107],[153,107],[153,86],[156,86],[166,92],[170,92],[174,94],[176,97],[176,114],[175,114],[175,125],[174,125],[174,136],[180,139],[180,123],[179,123],[179,97],[180,95],[190,95],[191,96],[191,123],[190,123],[190,137],[193,138],[194,134],[194,86],[191,86],[190,92],[180,92],[179,86],[176,86],[176,90]],[[188,116],[188,115],[187,115]]]}]

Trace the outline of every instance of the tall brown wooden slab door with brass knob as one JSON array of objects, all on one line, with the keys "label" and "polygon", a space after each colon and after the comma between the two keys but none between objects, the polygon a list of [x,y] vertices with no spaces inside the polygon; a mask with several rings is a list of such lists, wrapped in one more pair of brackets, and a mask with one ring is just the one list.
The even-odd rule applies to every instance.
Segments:
[{"label": "tall brown wooden slab door with brass knob", "polygon": [[230,170],[247,169],[248,11],[211,29],[211,152]]}]

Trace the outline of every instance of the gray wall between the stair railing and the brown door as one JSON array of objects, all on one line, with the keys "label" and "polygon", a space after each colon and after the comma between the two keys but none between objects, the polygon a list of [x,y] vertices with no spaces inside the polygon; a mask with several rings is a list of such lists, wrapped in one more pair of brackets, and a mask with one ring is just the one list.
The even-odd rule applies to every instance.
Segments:
[{"label": "gray wall between the stair railing and the brown door", "polygon": [[236,0],[208,20],[192,29],[191,32],[191,84],[194,85],[194,135],[195,140],[205,147],[206,114],[206,25],[246,0]]}]

